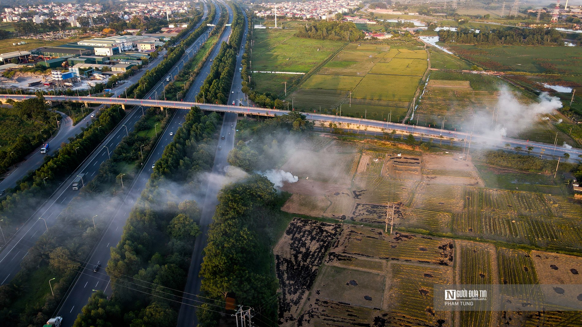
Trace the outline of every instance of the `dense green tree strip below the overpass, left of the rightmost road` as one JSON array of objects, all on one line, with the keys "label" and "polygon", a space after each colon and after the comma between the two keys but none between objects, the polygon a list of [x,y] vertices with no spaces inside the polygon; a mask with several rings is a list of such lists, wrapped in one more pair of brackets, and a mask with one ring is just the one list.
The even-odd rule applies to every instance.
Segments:
[{"label": "dense green tree strip below the overpass, left of the rightmost road", "polygon": [[111,300],[94,293],[74,327],[176,325],[180,290],[200,233],[200,209],[194,200],[179,200],[171,189],[166,192],[164,185],[210,170],[220,122],[217,113],[205,116],[198,107],[186,115],[130,212],[122,239],[111,249]]}]

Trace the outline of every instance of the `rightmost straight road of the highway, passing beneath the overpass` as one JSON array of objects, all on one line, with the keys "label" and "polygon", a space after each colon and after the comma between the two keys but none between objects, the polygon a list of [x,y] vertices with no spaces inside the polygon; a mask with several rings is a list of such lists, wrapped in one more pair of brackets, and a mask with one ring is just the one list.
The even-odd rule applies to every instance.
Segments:
[{"label": "rightmost straight road of the highway, passing beneath the overpass", "polygon": [[[229,8],[229,23],[232,23],[232,15],[230,11],[232,10]],[[244,34],[242,39],[242,46],[239,49],[239,53],[237,53],[236,58],[236,66],[235,66],[235,76],[233,76],[232,85],[230,87],[230,95],[228,99],[228,103],[233,103],[233,101],[237,101],[239,97],[240,88],[242,87],[242,78],[240,77],[240,72],[238,67],[240,67],[240,63],[242,62],[242,56],[244,53],[244,45],[246,44],[246,37],[248,31],[247,26],[247,16],[244,13]],[[222,39],[226,41],[228,37],[230,37],[230,32],[232,30],[225,30],[225,33],[222,36]],[[217,46],[219,48],[219,46]],[[210,69],[210,67],[209,67]],[[200,84],[201,85],[201,84]],[[198,87],[198,90],[200,87]],[[193,100],[196,94],[194,92],[189,92],[188,96],[185,100]],[[221,138],[218,140],[218,145],[220,148],[215,153],[214,157],[214,164],[212,165],[212,173],[213,174],[224,174],[225,168],[228,167],[228,162],[226,161],[228,153],[235,147],[235,131],[236,131],[236,122],[238,120],[238,114],[236,113],[225,113],[222,127],[221,127]],[[224,136],[224,139],[222,139]],[[200,272],[200,266],[204,259],[204,247],[207,244],[208,238],[208,226],[212,222],[212,217],[214,216],[214,212],[216,211],[216,206],[218,204],[218,192],[221,190],[222,185],[219,184],[212,184],[209,183],[206,185],[206,194],[204,197],[204,202],[201,203],[202,210],[200,215],[200,222],[198,225],[200,226],[200,236],[196,238],[196,242],[194,243],[194,249],[190,261],[190,268],[188,271],[188,278],[186,281],[186,286],[184,287],[184,293],[182,294],[182,306],[180,307],[180,312],[178,314],[178,327],[195,327],[198,324],[198,319],[196,317],[196,308],[194,306],[199,306],[201,304],[200,299],[196,299],[196,294],[200,293],[200,282],[201,278],[198,276]],[[200,203],[199,203],[200,205]]]}]

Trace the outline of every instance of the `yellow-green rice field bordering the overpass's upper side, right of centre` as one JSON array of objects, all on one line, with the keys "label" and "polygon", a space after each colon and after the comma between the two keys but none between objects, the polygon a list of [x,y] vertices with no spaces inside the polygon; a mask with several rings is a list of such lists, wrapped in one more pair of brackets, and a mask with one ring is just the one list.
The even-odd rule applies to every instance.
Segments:
[{"label": "yellow-green rice field bordering the overpass's upper side, right of centre", "polygon": [[335,113],[341,105],[343,116],[384,120],[392,112],[392,121],[399,121],[427,69],[426,58],[418,47],[349,44],[287,99],[298,109],[321,106]]}]

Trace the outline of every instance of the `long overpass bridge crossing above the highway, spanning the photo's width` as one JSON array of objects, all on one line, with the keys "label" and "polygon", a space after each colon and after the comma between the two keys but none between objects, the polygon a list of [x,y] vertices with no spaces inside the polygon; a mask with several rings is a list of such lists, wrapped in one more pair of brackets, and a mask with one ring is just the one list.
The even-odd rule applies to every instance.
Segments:
[{"label": "long overpass bridge crossing above the highway, spanning the photo's width", "polygon": [[[15,101],[26,100],[35,98],[36,95],[0,95],[0,101],[5,102],[8,99]],[[236,106],[236,105],[215,105],[211,103],[200,103],[200,102],[186,102],[186,101],[168,101],[168,100],[158,100],[158,99],[126,99],[126,98],[102,98],[97,96],[44,96],[45,100],[49,102],[62,102],[62,101],[72,101],[81,102],[85,105],[88,103],[100,103],[108,105],[120,105],[123,109],[126,106],[149,106],[149,107],[160,107],[162,110],[164,108],[177,108],[177,109],[190,109],[191,107],[197,106],[202,110],[222,112],[222,113],[237,113],[243,115],[257,115],[257,116],[281,116],[283,114],[289,113],[288,110],[277,110],[268,109],[260,107],[248,107],[248,106]],[[438,128],[414,126],[401,123],[390,123],[386,121],[370,120],[370,119],[360,119],[345,116],[335,116],[331,114],[318,114],[318,113],[303,113],[307,116],[308,120],[314,121],[325,121],[333,123],[341,123],[343,126],[341,128],[349,128],[348,124],[360,127],[371,128],[370,131],[400,131],[403,133],[410,133],[415,136],[420,135],[420,139],[424,137],[442,139],[443,141],[461,141],[467,143],[467,146],[471,147],[471,142],[479,143],[481,147],[485,148],[500,148],[501,145],[509,144],[512,147],[520,146],[523,150],[527,150],[528,147],[533,148],[531,152],[538,153],[541,156],[564,156],[568,153],[570,156],[570,161],[577,162],[574,159],[582,158],[582,149],[570,148],[565,146],[553,145],[541,142],[532,142],[529,140],[506,138],[506,137],[496,137],[488,135],[473,134],[471,132],[460,132],[460,131],[448,131],[440,130]],[[360,130],[359,130],[360,132]]]}]

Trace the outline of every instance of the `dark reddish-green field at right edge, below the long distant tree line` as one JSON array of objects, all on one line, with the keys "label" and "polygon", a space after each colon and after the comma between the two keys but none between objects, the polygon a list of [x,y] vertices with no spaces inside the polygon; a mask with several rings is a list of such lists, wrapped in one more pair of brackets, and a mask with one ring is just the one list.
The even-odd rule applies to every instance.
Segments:
[{"label": "dark reddish-green field at right edge, below the long distant tree line", "polygon": [[579,46],[450,45],[450,48],[491,70],[582,74]]}]

